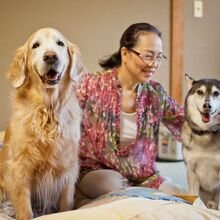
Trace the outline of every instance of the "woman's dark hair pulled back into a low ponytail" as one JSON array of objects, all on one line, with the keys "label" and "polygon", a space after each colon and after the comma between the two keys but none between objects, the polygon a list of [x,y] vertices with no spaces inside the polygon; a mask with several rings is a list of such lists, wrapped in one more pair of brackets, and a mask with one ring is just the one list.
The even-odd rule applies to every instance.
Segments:
[{"label": "woman's dark hair pulled back into a low ponytail", "polygon": [[119,50],[109,56],[107,59],[100,60],[99,65],[104,69],[111,69],[120,66],[121,48],[126,47],[128,49],[132,49],[136,45],[139,35],[144,32],[153,32],[157,34],[158,37],[162,37],[160,30],[149,23],[132,24],[122,34]]}]

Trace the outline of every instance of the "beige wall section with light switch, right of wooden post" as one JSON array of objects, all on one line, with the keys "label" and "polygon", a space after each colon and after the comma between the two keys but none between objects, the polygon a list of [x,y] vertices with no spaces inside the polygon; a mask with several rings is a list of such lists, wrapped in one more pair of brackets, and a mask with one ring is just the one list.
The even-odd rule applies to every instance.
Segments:
[{"label": "beige wall section with light switch, right of wooden post", "polygon": [[[220,80],[220,1],[203,0],[202,18],[193,16],[194,0],[185,0],[184,71],[195,79]],[[186,93],[184,87],[184,95]]]}]

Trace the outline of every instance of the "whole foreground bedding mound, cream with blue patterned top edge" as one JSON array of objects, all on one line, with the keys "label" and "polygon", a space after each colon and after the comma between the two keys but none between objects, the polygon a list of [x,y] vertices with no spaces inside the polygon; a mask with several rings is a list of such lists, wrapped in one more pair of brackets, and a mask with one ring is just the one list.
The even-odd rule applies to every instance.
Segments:
[{"label": "whole foreground bedding mound, cream with blue patterned top edge", "polygon": [[41,216],[36,220],[217,220],[220,213],[197,205],[190,196],[171,196],[159,190],[128,188],[104,195],[78,210]]}]

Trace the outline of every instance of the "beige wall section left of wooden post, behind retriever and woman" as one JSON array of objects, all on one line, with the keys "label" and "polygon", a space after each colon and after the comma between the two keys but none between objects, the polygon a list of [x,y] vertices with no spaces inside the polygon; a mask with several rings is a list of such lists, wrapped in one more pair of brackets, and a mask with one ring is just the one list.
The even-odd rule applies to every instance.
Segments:
[{"label": "beige wall section left of wooden post, behind retriever and woman", "polygon": [[[161,29],[169,57],[170,0],[0,0],[0,130],[10,115],[5,72],[15,49],[32,32],[47,26],[59,29],[80,47],[87,68],[96,71],[98,60],[118,50],[122,32],[135,22]],[[168,90],[169,61],[155,79]]]}]

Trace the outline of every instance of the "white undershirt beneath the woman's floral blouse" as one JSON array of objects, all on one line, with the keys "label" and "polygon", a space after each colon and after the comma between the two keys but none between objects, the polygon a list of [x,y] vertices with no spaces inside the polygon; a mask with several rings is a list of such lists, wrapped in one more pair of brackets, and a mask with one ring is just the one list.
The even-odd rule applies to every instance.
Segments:
[{"label": "white undershirt beneath the woman's floral blouse", "polygon": [[129,145],[137,135],[136,112],[120,114],[120,146]]}]

